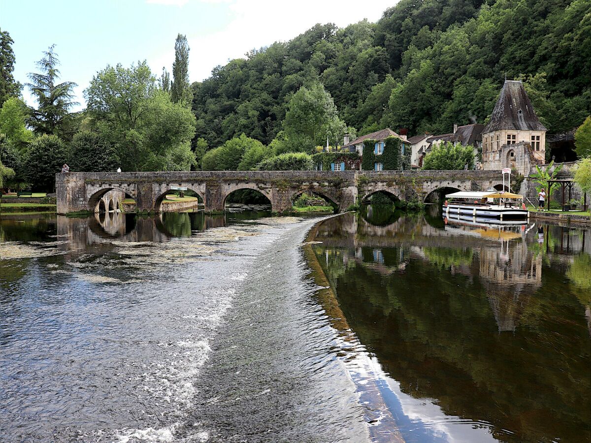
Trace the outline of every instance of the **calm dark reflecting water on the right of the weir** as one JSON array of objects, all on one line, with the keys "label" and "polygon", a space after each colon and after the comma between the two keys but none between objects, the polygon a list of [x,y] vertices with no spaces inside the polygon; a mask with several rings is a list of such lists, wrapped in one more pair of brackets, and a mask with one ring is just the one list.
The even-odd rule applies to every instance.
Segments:
[{"label": "calm dark reflecting water on the right of the weir", "polygon": [[589,236],[445,224],[436,209],[322,223],[319,299],[374,438],[589,441]]}]

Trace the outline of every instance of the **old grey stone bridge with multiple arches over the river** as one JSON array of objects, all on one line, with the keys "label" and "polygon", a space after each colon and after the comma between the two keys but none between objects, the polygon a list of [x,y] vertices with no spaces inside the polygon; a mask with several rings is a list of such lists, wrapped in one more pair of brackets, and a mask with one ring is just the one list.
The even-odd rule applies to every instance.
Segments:
[{"label": "old grey stone bridge with multiple arches over the river", "polygon": [[275,212],[291,210],[293,201],[305,191],[343,211],[378,191],[400,200],[425,201],[440,190],[500,190],[502,176],[501,171],[70,172],[56,174],[57,212],[96,213],[109,191],[134,198],[140,212],[160,212],[172,187],[194,191],[210,213],[223,212],[229,194],[241,189],[259,191]]}]

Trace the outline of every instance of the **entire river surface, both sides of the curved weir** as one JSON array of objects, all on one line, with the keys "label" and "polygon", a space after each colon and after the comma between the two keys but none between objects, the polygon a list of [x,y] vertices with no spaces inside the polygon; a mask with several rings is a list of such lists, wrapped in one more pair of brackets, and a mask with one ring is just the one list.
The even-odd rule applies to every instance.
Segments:
[{"label": "entire river surface, both sides of the curved weir", "polygon": [[589,441],[590,237],[2,216],[0,440]]}]

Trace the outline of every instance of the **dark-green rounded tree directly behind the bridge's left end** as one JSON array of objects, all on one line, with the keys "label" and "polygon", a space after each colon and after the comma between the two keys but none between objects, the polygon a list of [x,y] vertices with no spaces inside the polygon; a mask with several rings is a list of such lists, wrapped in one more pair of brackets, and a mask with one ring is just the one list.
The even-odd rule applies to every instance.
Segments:
[{"label": "dark-green rounded tree directly behind the bridge's left end", "polygon": [[70,170],[76,172],[115,172],[119,157],[113,145],[102,135],[80,131],[70,144]]}]

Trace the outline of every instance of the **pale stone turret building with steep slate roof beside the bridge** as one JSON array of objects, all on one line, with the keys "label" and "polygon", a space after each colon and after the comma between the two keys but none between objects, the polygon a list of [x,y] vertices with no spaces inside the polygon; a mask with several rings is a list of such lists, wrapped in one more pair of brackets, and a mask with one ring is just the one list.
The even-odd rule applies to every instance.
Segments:
[{"label": "pale stone turret building with steep slate roof beside the bridge", "polygon": [[520,80],[505,80],[488,125],[482,130],[482,164],[485,170],[513,168],[529,175],[544,164],[546,128]]}]

